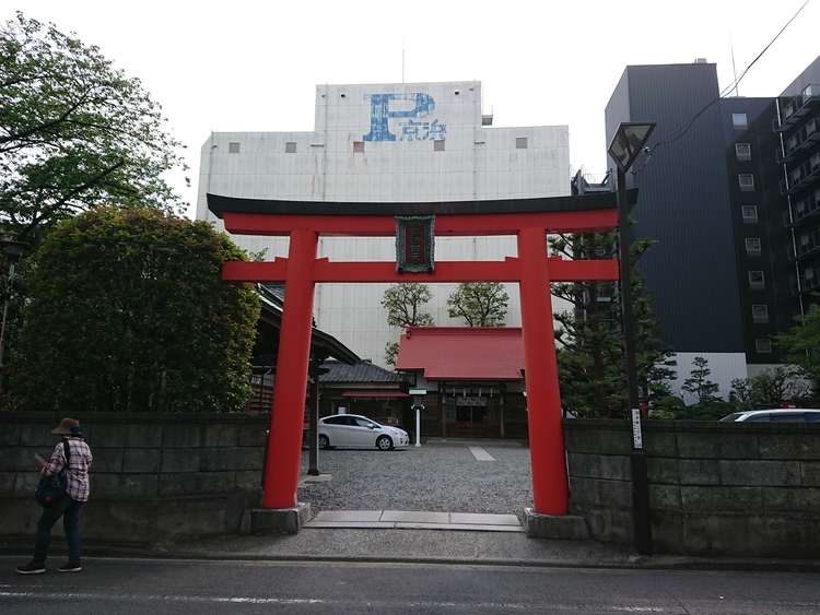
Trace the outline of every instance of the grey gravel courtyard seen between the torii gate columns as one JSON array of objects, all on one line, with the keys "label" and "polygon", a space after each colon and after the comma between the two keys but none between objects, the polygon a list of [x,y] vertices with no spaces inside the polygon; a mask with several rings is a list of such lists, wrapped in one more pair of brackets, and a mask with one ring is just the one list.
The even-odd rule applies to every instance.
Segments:
[{"label": "grey gravel courtyard seen between the torii gate columns", "polygon": [[[298,500],[321,510],[415,510],[516,515],[532,506],[529,449],[476,443],[495,461],[479,461],[467,445],[426,443],[405,450],[324,450],[318,468],[332,477],[307,483]],[[302,474],[308,469],[302,451]]]}]

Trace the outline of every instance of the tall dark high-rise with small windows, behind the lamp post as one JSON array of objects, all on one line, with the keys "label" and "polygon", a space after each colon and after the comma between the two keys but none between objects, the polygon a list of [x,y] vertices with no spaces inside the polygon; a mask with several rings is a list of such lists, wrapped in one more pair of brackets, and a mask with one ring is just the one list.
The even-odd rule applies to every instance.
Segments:
[{"label": "tall dark high-rise with small windows, behind the lamp post", "polygon": [[[639,187],[634,238],[663,340],[710,360],[721,393],[778,364],[771,335],[794,326],[820,291],[820,58],[778,96],[721,97],[716,66],[628,67],[606,109],[655,120]],[[682,358],[682,360],[681,360]]]}]

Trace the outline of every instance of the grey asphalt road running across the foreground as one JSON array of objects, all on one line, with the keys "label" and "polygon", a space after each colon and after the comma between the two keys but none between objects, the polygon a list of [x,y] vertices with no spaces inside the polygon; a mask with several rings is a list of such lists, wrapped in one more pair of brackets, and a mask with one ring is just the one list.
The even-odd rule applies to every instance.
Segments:
[{"label": "grey asphalt road running across the foreground", "polygon": [[105,558],[23,577],[20,563],[0,557],[2,613],[820,612],[819,579],[801,573]]}]

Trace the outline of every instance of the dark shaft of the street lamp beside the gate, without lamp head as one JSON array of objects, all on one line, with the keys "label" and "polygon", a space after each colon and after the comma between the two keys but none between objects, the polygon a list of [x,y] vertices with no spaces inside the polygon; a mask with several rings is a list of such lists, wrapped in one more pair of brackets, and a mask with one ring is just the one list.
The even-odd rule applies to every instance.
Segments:
[{"label": "dark shaft of the street lamp beside the gate, without lamp head", "polygon": [[635,549],[652,555],[652,515],[649,511],[649,478],[641,431],[641,409],[637,391],[637,360],[635,358],[635,315],[632,309],[632,260],[629,244],[629,211],[626,204],[626,174],[618,168],[618,249],[621,277],[621,317],[623,347],[626,363],[626,393],[632,414],[632,516]]}]

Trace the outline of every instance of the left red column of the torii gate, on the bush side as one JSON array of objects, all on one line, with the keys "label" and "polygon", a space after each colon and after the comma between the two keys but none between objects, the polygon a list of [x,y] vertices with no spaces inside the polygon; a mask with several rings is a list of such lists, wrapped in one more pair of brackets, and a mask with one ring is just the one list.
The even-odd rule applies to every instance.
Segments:
[{"label": "left red column of the torii gate, on the bush side", "polygon": [[291,508],[296,504],[311,359],[313,267],[318,243],[316,232],[291,232],[268,457],[265,460],[262,508]]}]

